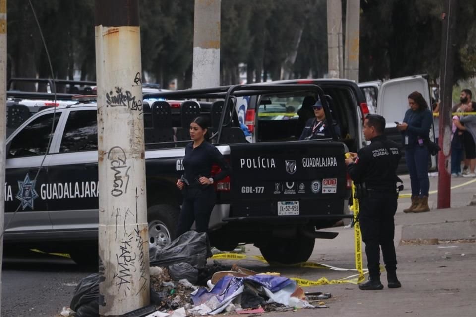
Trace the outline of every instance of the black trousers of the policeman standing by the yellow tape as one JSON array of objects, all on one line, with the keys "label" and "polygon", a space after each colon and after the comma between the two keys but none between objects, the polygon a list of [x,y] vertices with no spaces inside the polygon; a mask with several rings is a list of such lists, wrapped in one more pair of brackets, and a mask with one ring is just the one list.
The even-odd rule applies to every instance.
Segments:
[{"label": "black trousers of the policeman standing by the yellow tape", "polygon": [[380,275],[380,247],[387,272],[397,269],[397,256],[393,239],[394,216],[397,211],[397,194],[369,191],[359,199],[360,230],[365,243],[367,267],[370,277]]}]

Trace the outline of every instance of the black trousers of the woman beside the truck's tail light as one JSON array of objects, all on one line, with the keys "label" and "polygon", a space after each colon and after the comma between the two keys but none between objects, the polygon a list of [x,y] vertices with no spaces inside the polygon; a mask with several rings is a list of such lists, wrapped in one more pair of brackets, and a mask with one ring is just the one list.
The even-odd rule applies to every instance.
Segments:
[{"label": "black trousers of the woman beside the truck's tail light", "polygon": [[177,236],[187,232],[195,222],[195,231],[207,232],[210,215],[215,206],[215,189],[213,186],[183,188],[183,203],[180,212]]}]

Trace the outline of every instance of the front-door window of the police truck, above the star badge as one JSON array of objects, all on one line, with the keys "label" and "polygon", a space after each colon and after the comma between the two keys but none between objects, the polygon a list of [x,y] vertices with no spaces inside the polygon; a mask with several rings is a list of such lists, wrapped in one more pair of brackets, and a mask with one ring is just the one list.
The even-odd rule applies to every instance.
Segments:
[{"label": "front-door window of the police truck, above the star badge", "polygon": [[53,136],[51,127],[54,122],[53,131],[55,131],[60,116],[61,112],[48,113],[31,121],[11,140],[7,159],[45,154],[50,135]]}]

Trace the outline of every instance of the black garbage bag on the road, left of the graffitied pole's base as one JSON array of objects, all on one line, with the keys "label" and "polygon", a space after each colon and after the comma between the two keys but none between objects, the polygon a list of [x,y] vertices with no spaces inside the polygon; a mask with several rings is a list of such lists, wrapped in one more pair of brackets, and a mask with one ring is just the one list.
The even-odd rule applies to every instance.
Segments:
[{"label": "black garbage bag on the road, left of the graffitied pole's base", "polygon": [[74,290],[71,304],[76,317],[99,316],[99,273],[83,278]]}]

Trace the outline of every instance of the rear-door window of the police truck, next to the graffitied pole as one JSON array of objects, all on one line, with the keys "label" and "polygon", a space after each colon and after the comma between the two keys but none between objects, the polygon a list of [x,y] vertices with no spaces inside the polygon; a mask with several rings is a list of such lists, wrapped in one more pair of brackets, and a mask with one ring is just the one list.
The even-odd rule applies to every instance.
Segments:
[{"label": "rear-door window of the police truck, next to the graffitied pole", "polygon": [[60,152],[94,151],[98,149],[97,112],[71,111],[61,138]]}]

